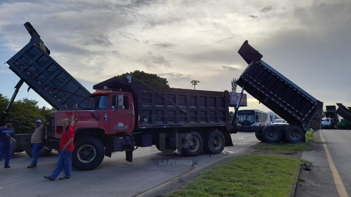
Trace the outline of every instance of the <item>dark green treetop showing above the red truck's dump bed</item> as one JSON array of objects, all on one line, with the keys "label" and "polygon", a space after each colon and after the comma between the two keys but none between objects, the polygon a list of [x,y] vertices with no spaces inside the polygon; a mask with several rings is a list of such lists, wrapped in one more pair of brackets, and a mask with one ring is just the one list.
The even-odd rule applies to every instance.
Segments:
[{"label": "dark green treetop showing above the red truck's dump bed", "polygon": [[125,79],[127,75],[131,75],[132,80],[133,78],[136,78],[151,87],[170,87],[166,78],[159,77],[156,74],[145,73],[144,71],[140,70],[134,70],[134,72],[117,75],[117,77],[119,79]]}]

